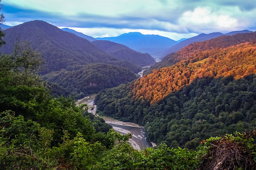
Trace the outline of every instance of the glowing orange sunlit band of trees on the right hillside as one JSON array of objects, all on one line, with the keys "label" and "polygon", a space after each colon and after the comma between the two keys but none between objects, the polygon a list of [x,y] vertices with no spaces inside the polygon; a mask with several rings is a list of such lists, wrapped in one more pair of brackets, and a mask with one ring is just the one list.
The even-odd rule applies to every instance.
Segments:
[{"label": "glowing orange sunlit band of trees on the right hillside", "polygon": [[174,66],[153,70],[152,74],[138,79],[132,89],[133,98],[136,100],[143,96],[154,104],[196,79],[227,76],[240,79],[255,74],[255,64],[254,43],[197,52]]}]

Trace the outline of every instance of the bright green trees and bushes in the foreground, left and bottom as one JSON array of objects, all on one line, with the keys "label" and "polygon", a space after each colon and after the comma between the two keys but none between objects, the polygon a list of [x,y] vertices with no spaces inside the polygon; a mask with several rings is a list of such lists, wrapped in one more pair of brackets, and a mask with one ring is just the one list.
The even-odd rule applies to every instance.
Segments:
[{"label": "bright green trees and bushes in the foreground, left and bottom", "polygon": [[127,142],[131,134],[114,132],[88,113],[86,104],[76,106],[71,98],[51,96],[36,74],[40,61],[30,47],[0,56],[1,169],[208,169],[220,158],[226,161],[223,167],[256,166],[255,131],[202,140],[195,150],[163,143],[137,151]]}]

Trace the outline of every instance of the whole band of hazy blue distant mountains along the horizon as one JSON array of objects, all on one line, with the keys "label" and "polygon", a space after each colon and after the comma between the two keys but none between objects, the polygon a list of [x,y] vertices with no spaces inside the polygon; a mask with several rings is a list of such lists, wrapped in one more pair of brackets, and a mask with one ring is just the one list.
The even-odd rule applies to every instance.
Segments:
[{"label": "whole band of hazy blue distant mountains along the horizon", "polygon": [[[11,28],[12,26],[6,26],[2,24],[2,30],[6,30]],[[159,35],[144,35],[140,32],[129,32],[124,33],[116,37],[103,37],[103,38],[93,38],[91,36],[82,34],[81,32],[77,32],[75,30],[69,28],[62,28],[61,30],[73,33],[81,38],[85,38],[90,42],[94,40],[109,40],[114,43],[119,43],[133,49],[135,51],[139,51],[141,53],[149,53],[153,58],[163,59],[166,55],[179,51],[183,47],[195,42],[201,42],[205,40],[210,40],[212,38],[216,38],[218,36],[223,35],[234,35],[234,34],[242,34],[249,33],[252,31],[242,30],[242,31],[232,31],[226,34],[221,32],[213,32],[210,34],[199,34],[197,36],[191,38],[181,38],[178,41],[171,40],[170,38],[159,36]],[[104,51],[104,50],[103,50]]]}]

